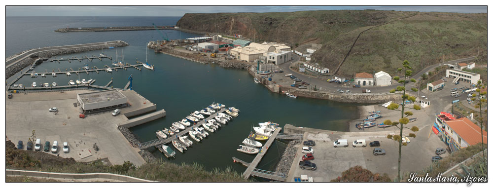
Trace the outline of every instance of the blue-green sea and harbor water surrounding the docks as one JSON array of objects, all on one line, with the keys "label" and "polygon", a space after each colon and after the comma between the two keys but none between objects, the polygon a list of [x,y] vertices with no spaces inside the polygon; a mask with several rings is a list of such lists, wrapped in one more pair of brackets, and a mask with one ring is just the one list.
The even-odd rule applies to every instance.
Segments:
[{"label": "blue-green sea and harbor water surrounding the docks", "polygon": [[[62,27],[144,26],[152,23],[174,25],[178,19],[179,17],[7,17],[7,56],[37,47],[124,40],[130,45],[118,48],[118,51],[120,53],[123,50],[125,62],[135,64],[136,58],[145,61],[147,41],[160,39],[157,31],[57,33],[54,30]],[[162,30],[162,32],[167,33],[170,39],[197,36],[178,31]],[[114,48],[90,51],[87,55],[105,53],[114,57],[116,50]],[[84,52],[57,58],[85,55]],[[65,85],[70,79],[96,79],[96,85],[106,85],[113,78],[112,85],[122,88],[128,82],[128,77],[133,75],[133,89],[157,104],[158,109],[166,110],[166,117],[131,128],[141,142],[157,139],[156,130],[170,127],[173,122],[181,120],[193,111],[200,111],[212,102],[234,106],[241,111],[238,117],[219,131],[210,133],[202,142],[193,141],[192,148],[185,153],[178,152],[176,159],[170,160],[176,163],[197,162],[209,170],[231,166],[234,170],[243,172],[246,168],[241,164],[233,163],[232,157],[236,156],[245,161],[253,160],[254,155],[241,153],[236,149],[258,122],[274,121],[281,126],[289,123],[300,127],[344,131],[348,129],[347,122],[357,118],[358,115],[356,104],[307,98],[293,99],[272,93],[264,86],[255,84],[252,76],[244,70],[225,69],[214,64],[203,65],[154,53],[153,50],[148,50],[147,56],[149,64],[154,65],[155,71],[146,69],[138,71],[130,68],[127,71],[113,71],[111,74],[91,72],[89,75],[86,73],[57,77],[47,75],[45,78],[24,76],[17,83],[30,85],[35,81]],[[85,64],[85,61],[60,64],[47,61],[36,66],[35,71],[52,72],[58,68],[63,71],[70,68],[78,70]],[[108,59],[93,60],[87,64],[98,68],[103,68],[104,65],[111,66]],[[276,141],[257,168],[273,170],[284,148],[284,143]],[[165,158],[160,151],[154,148],[151,151],[155,156]]]}]

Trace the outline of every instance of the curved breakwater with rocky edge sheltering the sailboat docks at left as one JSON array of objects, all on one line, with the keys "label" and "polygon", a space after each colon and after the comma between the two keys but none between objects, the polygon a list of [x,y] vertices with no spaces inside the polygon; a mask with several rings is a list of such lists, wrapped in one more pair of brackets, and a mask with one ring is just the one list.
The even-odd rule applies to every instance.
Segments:
[{"label": "curved breakwater with rocky edge sheltering the sailboat docks at left", "polygon": [[[78,48],[69,48],[69,49],[55,49],[55,50],[50,50],[50,51],[37,52],[37,53],[30,55],[29,57],[21,60],[20,62],[6,68],[5,69],[5,79],[9,78],[12,75],[15,75],[16,73],[18,73],[22,69],[31,66],[39,58],[48,59],[48,58],[51,58],[51,57],[57,56],[57,55],[80,53],[80,52],[93,51],[93,50],[101,50],[101,49],[108,48],[109,46],[122,47],[122,46],[128,46],[128,45],[129,44],[126,42],[119,42],[119,43],[100,45],[100,46],[78,47]],[[40,63],[40,62],[38,62],[38,63]]]}]

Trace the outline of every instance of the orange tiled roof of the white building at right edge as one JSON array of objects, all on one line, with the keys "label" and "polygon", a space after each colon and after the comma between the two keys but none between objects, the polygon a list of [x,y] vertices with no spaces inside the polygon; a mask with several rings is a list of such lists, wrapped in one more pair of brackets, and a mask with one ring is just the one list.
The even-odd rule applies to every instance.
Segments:
[{"label": "orange tiled roof of the white building at right edge", "polygon": [[[481,143],[481,127],[474,124],[468,118],[462,117],[456,120],[445,121],[450,128],[457,133],[460,138],[464,139],[469,145],[475,145]],[[483,130],[483,137],[485,144],[488,143],[488,134]]]}]

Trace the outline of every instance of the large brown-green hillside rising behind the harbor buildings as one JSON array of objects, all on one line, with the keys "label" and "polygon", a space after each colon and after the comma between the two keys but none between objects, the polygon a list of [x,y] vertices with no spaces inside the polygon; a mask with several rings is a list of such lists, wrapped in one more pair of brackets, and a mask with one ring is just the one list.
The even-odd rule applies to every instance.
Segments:
[{"label": "large brown-green hillside rising behind the harbor buildings", "polygon": [[[312,59],[338,75],[384,70],[395,72],[407,59],[417,70],[487,50],[487,14],[321,10],[268,13],[185,14],[183,29],[209,34],[240,34],[256,41],[320,43]],[[486,55],[486,54],[485,54]],[[487,60],[484,60],[487,61]],[[416,71],[417,72],[417,71]]]}]

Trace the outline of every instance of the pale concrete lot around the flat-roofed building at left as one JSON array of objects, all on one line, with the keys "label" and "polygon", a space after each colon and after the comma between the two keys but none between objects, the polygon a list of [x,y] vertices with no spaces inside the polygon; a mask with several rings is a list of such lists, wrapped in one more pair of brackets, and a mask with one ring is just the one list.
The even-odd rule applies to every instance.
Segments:
[{"label": "pale concrete lot around the flat-roofed building at left", "polygon": [[[131,161],[137,166],[144,163],[125,137],[115,126],[127,120],[123,115],[112,116],[111,112],[89,115],[79,118],[80,107],[74,107],[76,94],[85,90],[60,92],[17,93],[12,99],[6,99],[5,135],[15,145],[24,142],[26,150],[28,139],[35,131],[35,138],[41,140],[41,151],[46,141],[53,144],[58,141],[59,148],[55,154],[72,157],[77,161],[93,161],[108,158],[112,164]],[[58,113],[49,112],[52,107]],[[69,153],[64,153],[61,146],[68,142]],[[99,151],[93,149],[97,143]],[[51,153],[51,152],[48,152]]]}]

